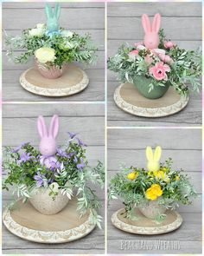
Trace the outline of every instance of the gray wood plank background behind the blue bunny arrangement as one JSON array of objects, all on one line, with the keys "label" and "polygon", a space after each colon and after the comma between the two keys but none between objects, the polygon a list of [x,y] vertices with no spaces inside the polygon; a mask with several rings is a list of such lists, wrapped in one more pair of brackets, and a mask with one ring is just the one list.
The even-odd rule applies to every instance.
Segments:
[{"label": "gray wood plank background behind the blue bunny arrangement", "polygon": [[[54,3],[51,3],[54,6]],[[21,35],[21,31],[35,27],[36,23],[46,23],[45,3],[3,3],[3,30],[10,35]],[[3,45],[3,100],[4,101],[103,101],[104,77],[104,37],[105,4],[104,3],[61,3],[61,27],[73,30],[80,35],[91,33],[93,41],[99,47],[98,62],[86,69],[90,78],[89,87],[79,95],[64,98],[48,98],[33,95],[22,89],[18,80],[22,71],[32,66],[8,62]],[[21,50],[19,50],[21,52]]]}]

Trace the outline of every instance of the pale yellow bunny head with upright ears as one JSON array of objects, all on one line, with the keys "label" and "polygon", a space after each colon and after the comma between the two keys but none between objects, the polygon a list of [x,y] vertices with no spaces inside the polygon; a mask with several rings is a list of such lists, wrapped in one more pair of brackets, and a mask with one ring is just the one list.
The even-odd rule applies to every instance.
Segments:
[{"label": "pale yellow bunny head with upright ears", "polygon": [[162,148],[157,146],[155,149],[155,154],[153,154],[152,148],[146,148],[147,157],[147,169],[149,172],[156,172],[160,168],[160,158],[162,154]]}]

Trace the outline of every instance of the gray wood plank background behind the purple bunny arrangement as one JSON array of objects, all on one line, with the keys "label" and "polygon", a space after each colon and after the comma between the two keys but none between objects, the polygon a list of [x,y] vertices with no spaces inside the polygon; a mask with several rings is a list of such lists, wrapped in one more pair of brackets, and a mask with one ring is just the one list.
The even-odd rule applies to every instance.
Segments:
[{"label": "gray wood plank background behind the purple bunny arrangement", "polygon": [[[88,145],[89,164],[94,166],[98,160],[104,161],[104,104],[4,104],[3,147],[17,146],[22,141],[30,141],[32,145],[38,147],[37,116],[44,115],[48,123],[54,114],[60,117],[58,145],[63,145],[67,140],[67,131],[79,133],[81,140]],[[94,188],[103,204],[100,214],[104,215],[104,191],[99,187]],[[10,202],[10,199],[10,193],[3,193],[3,206]],[[96,228],[85,238],[72,243],[43,245],[22,240],[3,226],[3,253],[28,252],[31,254],[104,253],[104,230]]]}]

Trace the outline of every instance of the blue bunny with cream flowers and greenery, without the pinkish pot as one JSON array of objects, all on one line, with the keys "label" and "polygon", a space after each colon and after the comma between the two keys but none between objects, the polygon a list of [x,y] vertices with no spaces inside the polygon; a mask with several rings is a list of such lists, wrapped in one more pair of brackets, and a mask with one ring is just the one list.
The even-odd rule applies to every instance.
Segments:
[{"label": "blue bunny with cream flowers and greenery, without the pinkish pot", "polygon": [[[59,28],[60,6],[52,8],[46,5],[47,24],[38,23],[35,28],[23,30],[21,36],[8,36],[5,44],[9,48],[7,56],[15,63],[28,62],[30,56],[35,56],[38,62],[49,67],[61,67],[70,62],[93,63],[97,48],[92,43],[89,34],[79,34],[64,28]],[[19,56],[14,55],[15,49],[23,49]]]}]

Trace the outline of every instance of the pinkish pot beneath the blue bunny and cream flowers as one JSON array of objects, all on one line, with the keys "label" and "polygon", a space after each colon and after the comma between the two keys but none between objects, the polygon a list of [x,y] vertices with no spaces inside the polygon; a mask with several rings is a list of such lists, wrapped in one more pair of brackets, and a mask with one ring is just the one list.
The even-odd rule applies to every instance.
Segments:
[{"label": "pinkish pot beneath the blue bunny and cream flowers", "polygon": [[56,66],[48,67],[48,65],[38,62],[37,59],[35,59],[35,67],[41,73],[41,75],[48,79],[56,79],[61,77],[65,70],[65,65],[62,66],[61,69]]}]

